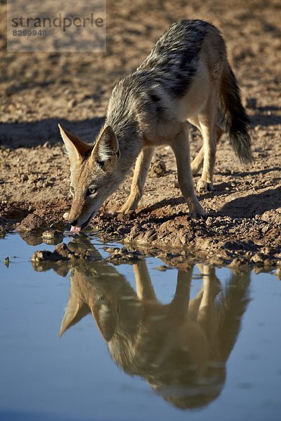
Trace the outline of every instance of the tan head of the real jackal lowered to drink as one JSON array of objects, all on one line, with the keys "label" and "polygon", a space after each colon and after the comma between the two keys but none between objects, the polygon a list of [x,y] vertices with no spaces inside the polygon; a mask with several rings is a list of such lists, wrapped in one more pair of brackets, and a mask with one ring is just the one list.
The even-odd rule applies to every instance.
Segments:
[{"label": "tan head of the real jackal lowered to drink", "polygon": [[60,125],[70,159],[70,193],[73,201],[68,222],[70,232],[79,232],[91,222],[105,199],[122,181],[117,161],[120,152],[117,137],[110,126],[98,135],[94,145],[83,142]]}]

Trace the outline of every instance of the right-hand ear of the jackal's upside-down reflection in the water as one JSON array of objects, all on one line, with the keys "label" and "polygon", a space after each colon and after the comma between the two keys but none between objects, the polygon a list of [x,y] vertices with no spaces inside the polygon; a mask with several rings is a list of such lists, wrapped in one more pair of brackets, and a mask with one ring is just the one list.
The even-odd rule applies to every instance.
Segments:
[{"label": "right-hand ear of the jackal's upside-down reflection in the water", "polygon": [[96,302],[91,307],[91,312],[103,339],[110,342],[117,326],[117,309],[114,308],[112,302],[103,300],[103,302]]}]

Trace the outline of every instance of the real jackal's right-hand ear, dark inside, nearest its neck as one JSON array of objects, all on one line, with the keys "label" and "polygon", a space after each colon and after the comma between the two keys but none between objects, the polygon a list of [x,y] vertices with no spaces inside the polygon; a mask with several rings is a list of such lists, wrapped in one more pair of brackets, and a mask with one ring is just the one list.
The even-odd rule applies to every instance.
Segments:
[{"label": "real jackal's right-hand ear, dark inside, nearest its neck", "polygon": [[109,159],[119,159],[119,143],[111,126],[106,126],[98,136],[93,147],[92,158],[94,161],[104,163]]}]

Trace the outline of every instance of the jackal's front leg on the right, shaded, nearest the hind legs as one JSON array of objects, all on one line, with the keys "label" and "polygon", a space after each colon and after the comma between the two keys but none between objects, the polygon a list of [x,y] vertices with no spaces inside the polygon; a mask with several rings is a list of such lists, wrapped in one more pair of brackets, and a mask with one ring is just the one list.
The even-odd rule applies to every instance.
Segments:
[{"label": "jackal's front leg on the right, shaded, nearest the hind legs", "polygon": [[192,216],[204,215],[204,209],[200,205],[194,190],[192,173],[190,168],[190,150],[188,143],[188,129],[183,126],[181,132],[176,136],[171,147],[176,156],[178,169],[178,185]]}]

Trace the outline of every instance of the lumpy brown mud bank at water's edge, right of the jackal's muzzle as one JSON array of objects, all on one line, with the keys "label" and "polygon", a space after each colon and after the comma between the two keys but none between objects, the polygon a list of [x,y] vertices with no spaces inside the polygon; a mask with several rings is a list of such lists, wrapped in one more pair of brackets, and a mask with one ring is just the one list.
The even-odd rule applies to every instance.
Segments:
[{"label": "lumpy brown mud bank at water's edge, right of the jackal's muzzle", "polygon": [[166,258],[175,258],[175,250],[188,250],[186,257],[214,265],[281,265],[280,225],[261,218],[210,215],[195,220],[182,212],[170,217],[140,213],[130,219],[118,215],[112,222],[111,217],[101,215],[95,227],[105,233],[105,239],[134,243],[148,250],[162,247]]}]

